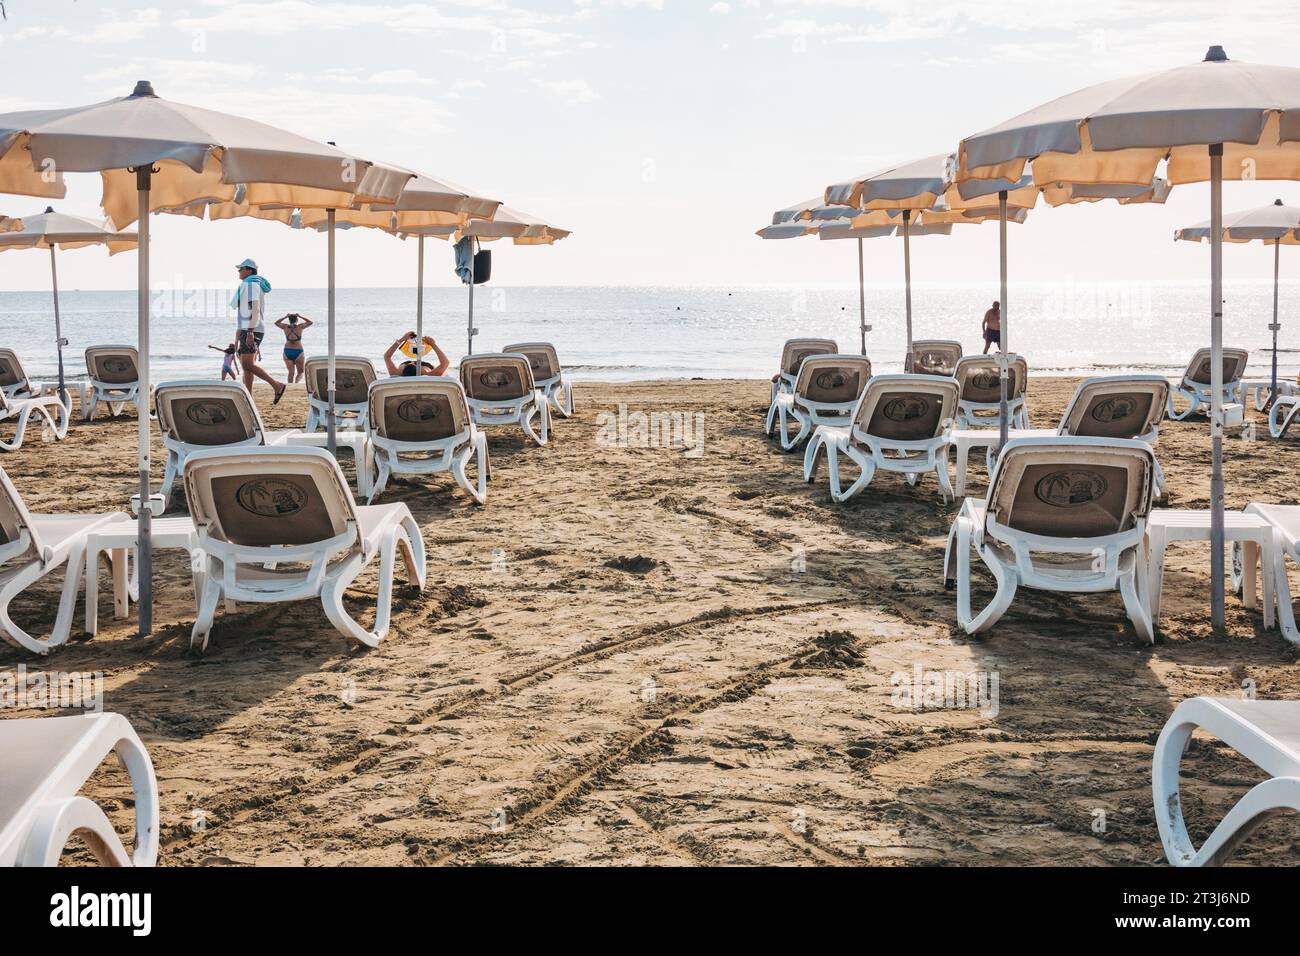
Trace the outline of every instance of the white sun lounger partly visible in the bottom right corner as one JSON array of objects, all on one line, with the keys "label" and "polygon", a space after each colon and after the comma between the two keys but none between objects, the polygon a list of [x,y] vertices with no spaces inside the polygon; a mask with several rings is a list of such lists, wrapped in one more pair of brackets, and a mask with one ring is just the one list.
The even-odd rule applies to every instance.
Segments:
[{"label": "white sun lounger partly visible in the bottom right corner", "polygon": [[[1213,734],[1268,774],[1214,827],[1200,849],[1183,821],[1179,765],[1192,731]],[[1219,866],[1251,832],[1282,812],[1300,812],[1300,701],[1184,700],[1156,741],[1150,774],[1156,825],[1174,866]]]}]

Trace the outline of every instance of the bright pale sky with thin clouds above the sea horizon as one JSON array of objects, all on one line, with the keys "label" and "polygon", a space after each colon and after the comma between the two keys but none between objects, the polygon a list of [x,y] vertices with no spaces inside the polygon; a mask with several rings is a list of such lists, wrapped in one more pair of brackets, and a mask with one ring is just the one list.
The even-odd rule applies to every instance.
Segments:
[{"label": "bright pale sky with thin clouds above the sea horizon", "polygon": [[[857,278],[852,242],[764,242],[774,209],[827,183],[952,151],[963,135],[1092,83],[1200,60],[1296,62],[1295,0],[3,0],[0,112],[88,104],[150,79],[159,95],[335,140],[573,230],[495,243],[511,285],[823,285]],[[57,208],[92,217],[96,176]],[[1225,208],[1300,183],[1225,186]],[[0,213],[43,200],[0,196]],[[1201,280],[1208,187],[1165,206],[1040,207],[1011,226],[1013,281]],[[325,285],[325,241],[274,222],[155,217],[156,282],[229,284],[244,256],[282,287]],[[870,281],[901,243],[866,243]],[[338,241],[341,286],[413,286],[416,248]],[[44,289],[34,252],[0,256],[0,290]],[[1288,256],[1283,255],[1283,260]],[[454,285],[429,243],[426,281]],[[1300,263],[1296,264],[1300,276]],[[1271,250],[1230,247],[1231,278],[1271,278]],[[1287,263],[1283,263],[1286,276]],[[997,281],[997,226],[918,239],[918,284]],[[130,289],[135,255],[61,259],[64,287]]]}]

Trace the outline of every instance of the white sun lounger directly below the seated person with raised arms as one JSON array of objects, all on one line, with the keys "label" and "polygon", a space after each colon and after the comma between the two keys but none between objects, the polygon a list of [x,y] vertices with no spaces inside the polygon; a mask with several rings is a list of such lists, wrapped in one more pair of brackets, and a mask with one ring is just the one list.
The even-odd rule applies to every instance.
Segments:
[{"label": "white sun lounger directly below the seated person with raised arms", "polygon": [[[482,505],[488,499],[488,438],[474,424],[460,382],[448,377],[385,378],[370,385],[370,446],[374,453],[373,502],[390,475],[450,472]],[[477,483],[465,467],[478,459]]]}]

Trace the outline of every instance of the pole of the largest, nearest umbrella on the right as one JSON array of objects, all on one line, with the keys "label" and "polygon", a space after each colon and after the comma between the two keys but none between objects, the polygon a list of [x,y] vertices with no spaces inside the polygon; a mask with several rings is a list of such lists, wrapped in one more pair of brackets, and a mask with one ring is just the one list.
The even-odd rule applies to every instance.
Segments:
[{"label": "pole of the largest, nearest umbrella on the right", "polygon": [[1223,631],[1223,144],[1210,146],[1210,624]]}]

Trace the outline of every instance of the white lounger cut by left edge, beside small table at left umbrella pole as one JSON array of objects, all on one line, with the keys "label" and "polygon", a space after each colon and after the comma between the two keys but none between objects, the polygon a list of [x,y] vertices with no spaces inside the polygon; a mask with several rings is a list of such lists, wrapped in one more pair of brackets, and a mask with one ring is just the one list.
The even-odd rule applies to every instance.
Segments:
[{"label": "white lounger cut by left edge, beside small table at left umbrella pole", "polygon": [[[18,489],[0,468],[0,637],[34,654],[48,654],[65,644],[72,633],[77,592],[86,570],[87,536],[117,520],[130,519],[121,512],[31,514]],[[65,568],[65,576],[55,628],[47,639],[34,637],[9,617],[9,604],[60,567]],[[125,574],[114,575],[114,581],[120,580],[125,580]],[[121,584],[114,585],[118,600],[124,598],[121,588]]]}]

